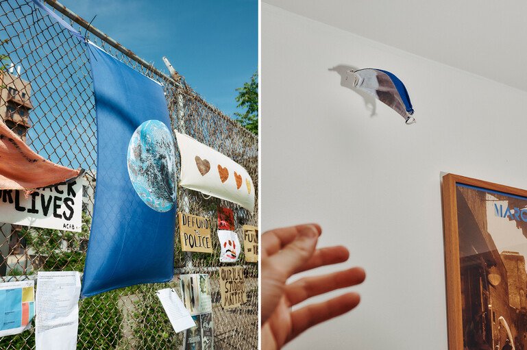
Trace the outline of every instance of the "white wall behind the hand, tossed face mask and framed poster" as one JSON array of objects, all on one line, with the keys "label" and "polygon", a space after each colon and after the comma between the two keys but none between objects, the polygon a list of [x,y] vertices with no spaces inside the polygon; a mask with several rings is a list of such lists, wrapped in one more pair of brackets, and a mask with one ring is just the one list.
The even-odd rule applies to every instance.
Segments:
[{"label": "white wall behind the hand, tossed face mask and framed poster", "polygon": [[[369,116],[339,64],[398,75],[417,124]],[[265,3],[261,82],[263,231],[321,223],[367,271],[358,308],[289,349],[447,349],[440,172],[527,188],[527,93]]]}]

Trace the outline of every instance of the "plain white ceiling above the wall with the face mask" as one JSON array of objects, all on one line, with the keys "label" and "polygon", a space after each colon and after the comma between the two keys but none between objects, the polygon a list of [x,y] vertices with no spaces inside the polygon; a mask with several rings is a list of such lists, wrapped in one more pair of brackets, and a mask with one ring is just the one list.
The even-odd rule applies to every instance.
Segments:
[{"label": "plain white ceiling above the wall with the face mask", "polygon": [[262,1],[527,91],[527,1]]}]

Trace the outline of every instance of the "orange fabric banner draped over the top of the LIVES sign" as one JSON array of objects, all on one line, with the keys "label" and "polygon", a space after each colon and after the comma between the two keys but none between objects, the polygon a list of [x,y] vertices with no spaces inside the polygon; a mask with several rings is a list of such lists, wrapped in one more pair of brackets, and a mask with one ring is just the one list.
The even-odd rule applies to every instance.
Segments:
[{"label": "orange fabric banner draped over the top of the LIVES sign", "polygon": [[81,170],[45,160],[0,121],[0,190],[33,190],[66,182]]}]

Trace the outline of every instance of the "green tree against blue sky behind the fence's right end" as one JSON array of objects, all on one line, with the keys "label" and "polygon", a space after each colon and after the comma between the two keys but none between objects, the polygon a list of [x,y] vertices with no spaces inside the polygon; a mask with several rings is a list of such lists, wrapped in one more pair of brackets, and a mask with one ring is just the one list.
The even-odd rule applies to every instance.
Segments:
[{"label": "green tree against blue sky behind the fence's right end", "polygon": [[234,112],[238,117],[238,123],[241,123],[245,129],[255,135],[258,135],[258,71],[254,72],[249,82],[237,88],[238,96],[236,102],[238,107],[246,108],[244,113]]}]

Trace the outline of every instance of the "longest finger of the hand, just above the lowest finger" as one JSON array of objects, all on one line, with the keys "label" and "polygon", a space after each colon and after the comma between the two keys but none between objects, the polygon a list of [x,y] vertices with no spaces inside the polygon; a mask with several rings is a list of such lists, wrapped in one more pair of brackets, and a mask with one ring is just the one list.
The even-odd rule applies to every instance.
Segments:
[{"label": "longest finger of the hand, just above the lowest finger", "polygon": [[327,275],[305,277],[286,286],[286,295],[291,305],[296,305],[316,295],[356,286],[363,283],[365,278],[366,273],[360,267],[328,273]]}]

